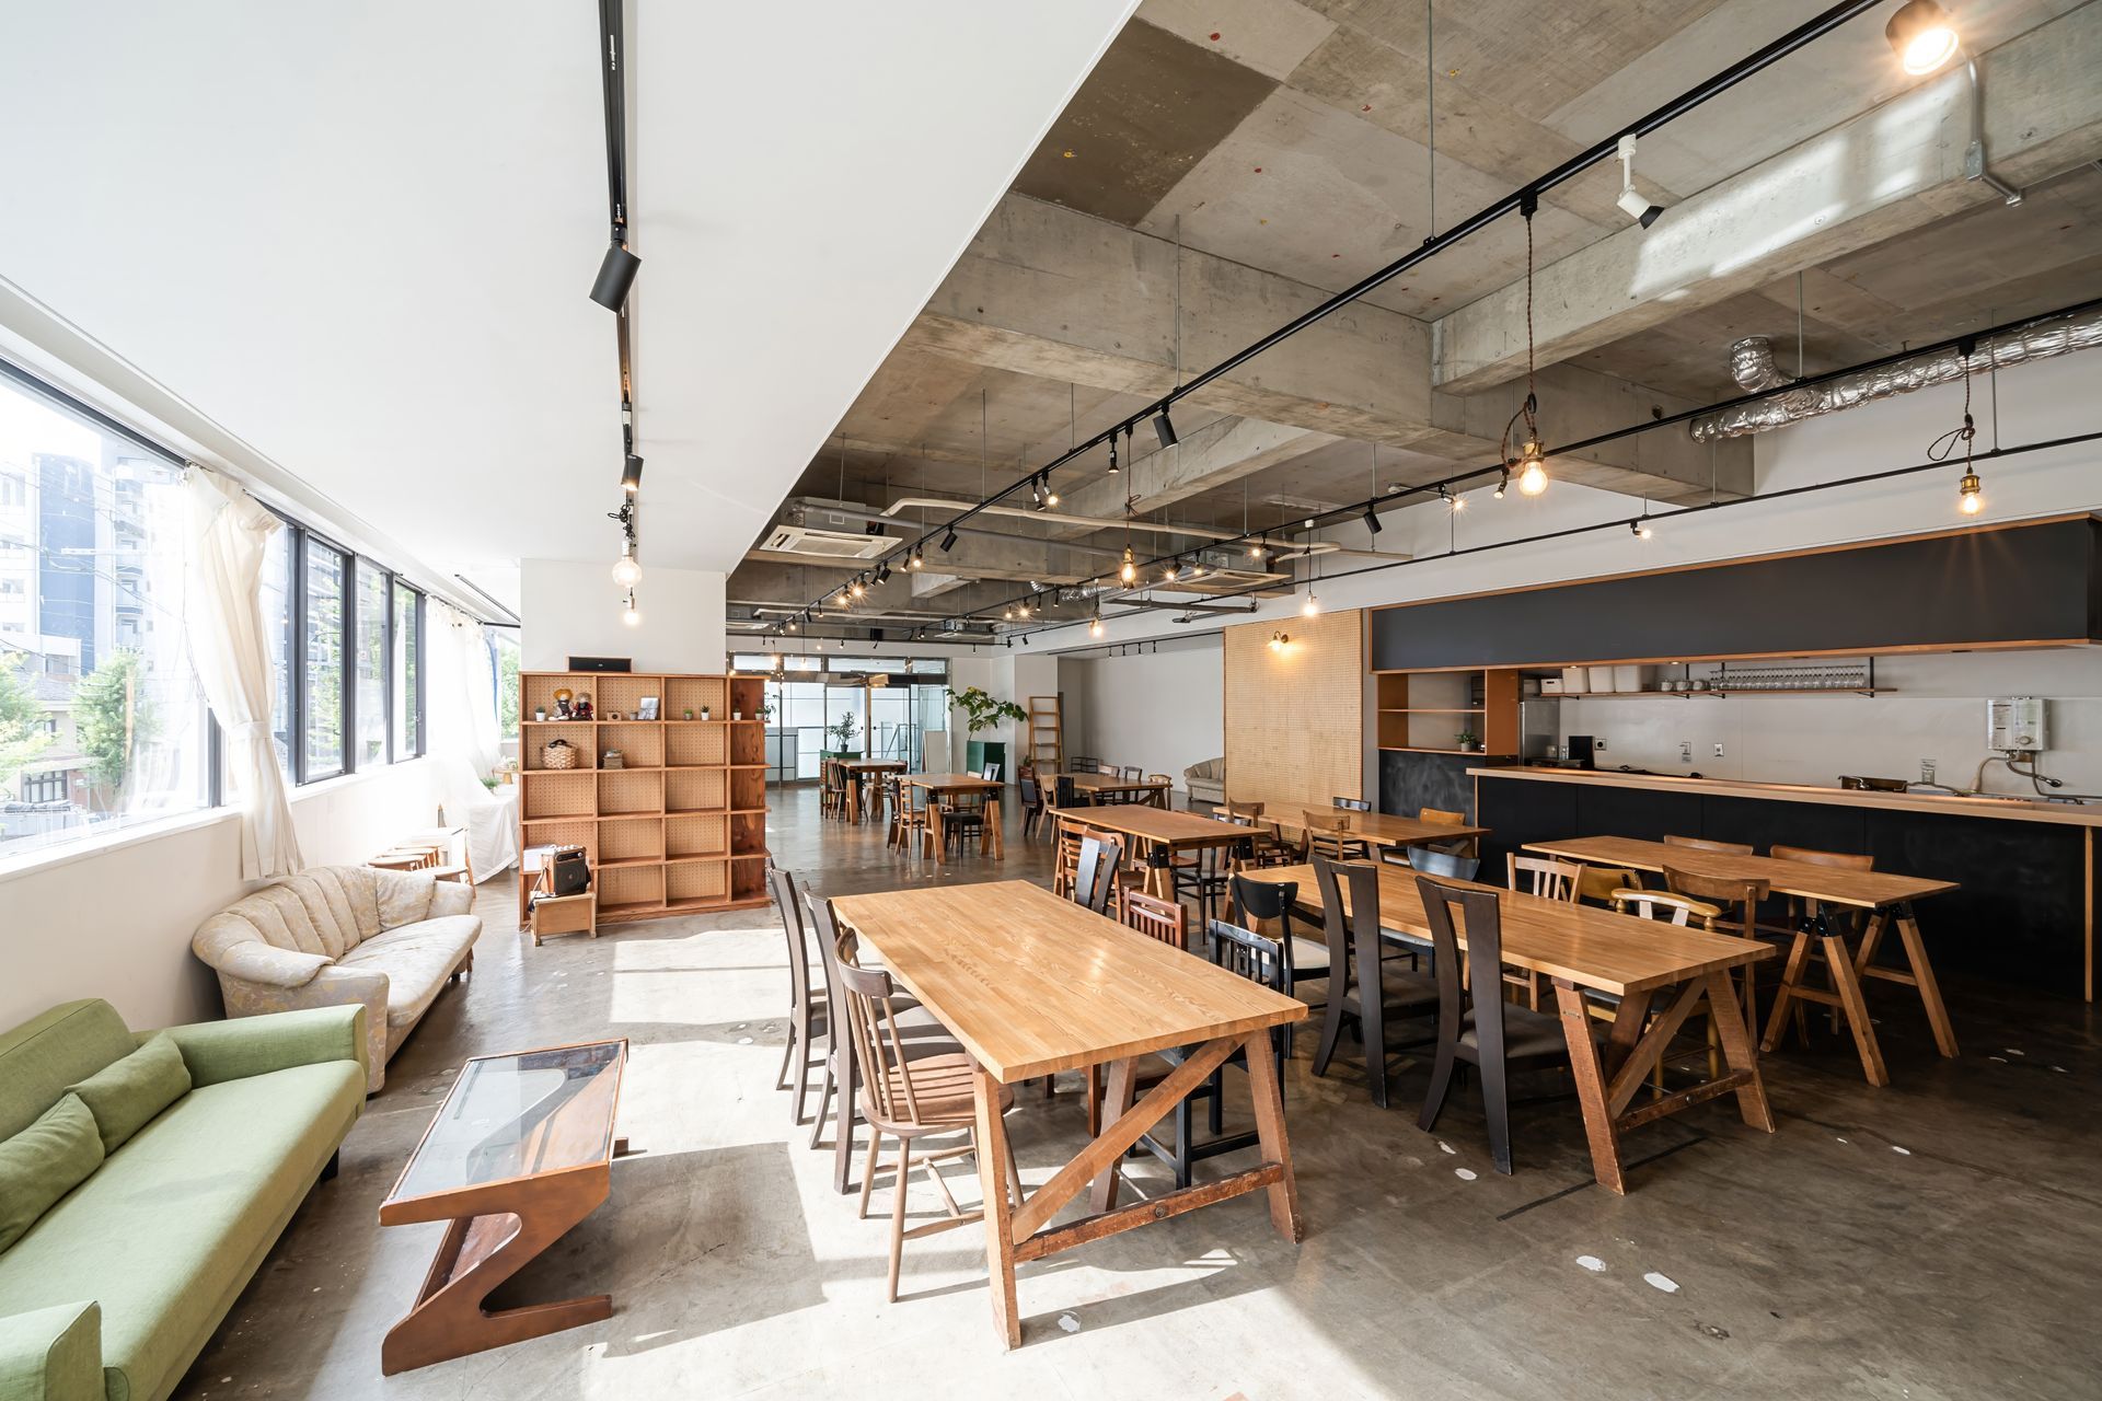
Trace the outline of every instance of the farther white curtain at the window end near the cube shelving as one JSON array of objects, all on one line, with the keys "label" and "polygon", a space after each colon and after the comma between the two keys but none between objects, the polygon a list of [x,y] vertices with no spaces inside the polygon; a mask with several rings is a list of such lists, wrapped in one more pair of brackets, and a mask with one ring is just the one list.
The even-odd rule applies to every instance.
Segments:
[{"label": "farther white curtain at the window end near the cube shelving", "polygon": [[425,718],[446,821],[467,828],[467,855],[475,880],[517,861],[517,790],[492,794],[481,779],[496,769],[496,674],[481,624],[458,609],[425,603]]}]

